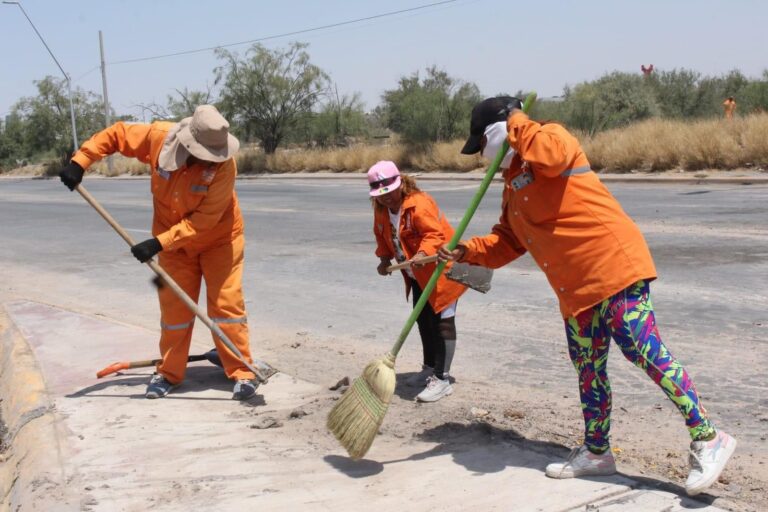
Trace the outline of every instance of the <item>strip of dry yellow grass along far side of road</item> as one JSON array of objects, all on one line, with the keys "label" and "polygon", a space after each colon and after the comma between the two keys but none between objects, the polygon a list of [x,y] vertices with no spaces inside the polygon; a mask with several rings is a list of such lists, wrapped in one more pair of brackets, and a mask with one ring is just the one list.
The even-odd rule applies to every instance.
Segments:
[{"label": "strip of dry yellow grass along far side of road", "polygon": [[[666,171],[684,169],[735,169],[768,167],[768,114],[752,114],[732,121],[709,119],[695,122],[651,119],[626,128],[611,130],[581,140],[592,167],[606,172]],[[241,173],[365,172],[379,160],[392,160],[408,172],[483,169],[478,155],[460,153],[463,140],[440,142],[431,147],[410,147],[398,142],[356,144],[332,149],[279,149],[265,155],[254,146],[244,147],[237,156]],[[60,164],[48,170],[29,166],[26,173],[55,175]],[[54,168],[55,167],[55,168]],[[92,169],[104,176],[149,174],[149,167],[121,155]],[[22,169],[9,171],[19,174]]]}]

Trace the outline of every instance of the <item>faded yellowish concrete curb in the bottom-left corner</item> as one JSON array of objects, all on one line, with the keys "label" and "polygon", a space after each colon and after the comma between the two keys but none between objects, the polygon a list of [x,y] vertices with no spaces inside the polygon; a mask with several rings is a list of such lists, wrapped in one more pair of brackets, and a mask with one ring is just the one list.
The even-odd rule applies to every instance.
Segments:
[{"label": "faded yellowish concrete curb in the bottom-left corner", "polygon": [[[0,410],[7,426],[0,453],[3,510],[81,510],[64,469],[55,406],[34,353],[0,308]],[[24,390],[20,393],[19,390]]]}]

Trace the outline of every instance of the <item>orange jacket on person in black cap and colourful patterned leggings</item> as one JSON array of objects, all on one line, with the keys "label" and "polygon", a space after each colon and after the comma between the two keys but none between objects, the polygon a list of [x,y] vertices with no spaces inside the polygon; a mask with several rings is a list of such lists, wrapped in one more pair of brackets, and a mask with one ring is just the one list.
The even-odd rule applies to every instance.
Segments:
[{"label": "orange jacket on person in black cap and colourful patterned leggings", "polygon": [[579,141],[522,112],[507,120],[517,152],[504,170],[499,223],[464,242],[463,261],[498,268],[530,252],[575,316],[656,269],[642,233],[590,169]]}]

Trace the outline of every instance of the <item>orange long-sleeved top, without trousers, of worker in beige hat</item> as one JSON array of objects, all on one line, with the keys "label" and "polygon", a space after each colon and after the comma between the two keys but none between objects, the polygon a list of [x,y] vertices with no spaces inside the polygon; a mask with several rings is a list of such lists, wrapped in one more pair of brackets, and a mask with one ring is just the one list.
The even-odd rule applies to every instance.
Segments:
[{"label": "orange long-sleeved top, without trousers, of worker in beige hat", "polygon": [[234,158],[210,167],[200,164],[168,172],[157,159],[173,123],[115,123],[86,141],[72,158],[83,169],[115,152],[133,157],[152,169],[154,217],[152,235],[163,250],[184,248],[190,255],[243,233],[235,194]]}]

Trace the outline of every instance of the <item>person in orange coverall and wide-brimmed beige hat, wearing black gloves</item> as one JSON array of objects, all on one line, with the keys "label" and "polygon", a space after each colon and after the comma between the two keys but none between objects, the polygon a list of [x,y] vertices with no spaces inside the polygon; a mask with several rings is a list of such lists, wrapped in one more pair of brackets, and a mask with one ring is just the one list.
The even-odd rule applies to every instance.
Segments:
[{"label": "person in orange coverall and wide-brimmed beige hat, wearing black gloves", "polygon": [[[119,152],[149,164],[154,216],[152,238],[131,247],[142,263],[159,253],[160,266],[193,300],[205,279],[208,316],[251,362],[242,292],[243,219],[235,193],[240,144],[212,105],[179,123],[115,123],[85,142],[59,173],[74,190],[85,169]],[[162,398],[184,380],[194,313],[169,287],[159,292],[162,362],[147,386],[147,398]],[[224,371],[235,380],[232,398],[256,393],[255,375],[217,336]]]}]

